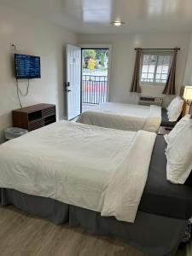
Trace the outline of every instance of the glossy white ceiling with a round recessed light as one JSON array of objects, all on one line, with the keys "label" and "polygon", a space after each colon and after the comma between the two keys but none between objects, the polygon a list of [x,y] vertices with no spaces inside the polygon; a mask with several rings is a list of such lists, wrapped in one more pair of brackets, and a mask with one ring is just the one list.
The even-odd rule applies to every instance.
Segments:
[{"label": "glossy white ceiling with a round recessed light", "polygon": [[[192,32],[192,0],[0,0],[79,33]],[[122,20],[125,25],[110,25]]]}]

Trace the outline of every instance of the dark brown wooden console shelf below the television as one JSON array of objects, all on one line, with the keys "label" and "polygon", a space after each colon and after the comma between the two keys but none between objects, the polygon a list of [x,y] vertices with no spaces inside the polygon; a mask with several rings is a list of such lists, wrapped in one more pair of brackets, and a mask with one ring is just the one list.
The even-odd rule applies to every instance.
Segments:
[{"label": "dark brown wooden console shelf below the television", "polygon": [[37,104],[12,111],[13,125],[28,131],[50,125],[56,121],[55,105]]}]

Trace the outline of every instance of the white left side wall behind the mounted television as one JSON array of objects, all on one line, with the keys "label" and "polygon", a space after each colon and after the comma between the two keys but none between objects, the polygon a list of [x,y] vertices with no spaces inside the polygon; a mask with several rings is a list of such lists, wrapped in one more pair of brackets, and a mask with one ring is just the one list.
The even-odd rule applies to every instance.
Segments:
[{"label": "white left side wall behind the mounted television", "polygon": [[[28,96],[21,97],[23,105],[56,104],[58,118],[62,119],[64,47],[67,43],[75,44],[76,35],[0,5],[0,143],[3,129],[12,125],[12,109],[20,108],[10,42],[17,43],[20,53],[41,57],[42,77],[30,81]],[[26,81],[20,82],[20,88],[25,91]]]}]

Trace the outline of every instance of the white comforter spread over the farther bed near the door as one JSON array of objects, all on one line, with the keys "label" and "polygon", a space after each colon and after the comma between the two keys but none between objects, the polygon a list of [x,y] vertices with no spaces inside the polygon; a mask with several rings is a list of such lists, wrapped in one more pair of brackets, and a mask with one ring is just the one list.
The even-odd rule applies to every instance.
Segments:
[{"label": "white comforter spread over the farther bed near the door", "polygon": [[161,108],[122,103],[103,103],[81,114],[79,123],[124,131],[158,131]]}]

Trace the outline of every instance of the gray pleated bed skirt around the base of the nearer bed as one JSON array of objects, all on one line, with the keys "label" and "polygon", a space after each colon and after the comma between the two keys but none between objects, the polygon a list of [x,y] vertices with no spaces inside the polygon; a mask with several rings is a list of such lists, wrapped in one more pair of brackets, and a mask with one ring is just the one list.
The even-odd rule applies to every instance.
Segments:
[{"label": "gray pleated bed skirt around the base of the nearer bed", "polygon": [[26,195],[14,189],[0,189],[2,206],[13,204],[24,212],[49,219],[54,224],[82,226],[90,234],[115,236],[151,256],[173,256],[183,239],[188,220],[166,218],[137,212],[134,224],[113,217],[101,217],[100,212],[69,206],[50,198]]}]

